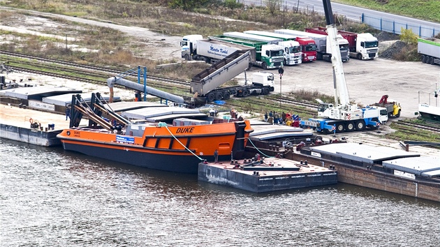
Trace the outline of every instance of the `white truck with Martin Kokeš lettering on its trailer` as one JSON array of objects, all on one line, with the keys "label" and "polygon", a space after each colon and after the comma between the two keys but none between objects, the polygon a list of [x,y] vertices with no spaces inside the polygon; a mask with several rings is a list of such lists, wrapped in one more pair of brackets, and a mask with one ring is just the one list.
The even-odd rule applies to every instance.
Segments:
[{"label": "white truck with Martin Koke\u0161 lettering on its trailer", "polygon": [[210,38],[203,39],[203,37],[198,34],[184,36],[180,42],[180,46],[182,47],[182,58],[187,61],[198,60],[207,63],[217,63],[217,61],[228,57],[230,54],[233,54],[233,52],[243,50],[251,53],[250,65],[255,63],[255,47]]}]

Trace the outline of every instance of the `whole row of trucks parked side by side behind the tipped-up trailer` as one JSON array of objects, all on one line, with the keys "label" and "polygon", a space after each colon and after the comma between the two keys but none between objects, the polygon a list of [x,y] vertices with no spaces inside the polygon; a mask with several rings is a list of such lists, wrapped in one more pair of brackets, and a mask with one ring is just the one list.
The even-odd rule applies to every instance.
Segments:
[{"label": "whole row of trucks parked side by side behind the tipped-up trailer", "polygon": [[[215,42],[217,41],[217,42]],[[328,33],[323,27],[314,27],[297,31],[278,29],[274,32],[249,30],[244,32],[226,32],[204,39],[200,35],[188,35],[182,38],[182,58],[215,63],[236,50],[254,50],[249,66],[263,69],[279,68],[307,61],[330,61]],[[338,31],[337,43],[342,61],[350,57],[357,59],[375,59],[378,57],[379,42],[371,33],[353,33]],[[282,54],[282,55],[281,55]],[[429,57],[427,57],[427,62]],[[437,60],[433,60],[438,61]]]}]

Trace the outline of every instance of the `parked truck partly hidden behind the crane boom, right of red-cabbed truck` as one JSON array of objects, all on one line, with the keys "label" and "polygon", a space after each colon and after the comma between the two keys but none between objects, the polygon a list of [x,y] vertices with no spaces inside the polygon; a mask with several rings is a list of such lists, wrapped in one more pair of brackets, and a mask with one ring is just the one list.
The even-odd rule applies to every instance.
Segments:
[{"label": "parked truck partly hidden behind the crane boom, right of red-cabbed truck", "polygon": [[[283,31],[284,33],[289,33],[297,36],[309,37],[316,43],[316,59],[331,61],[332,52],[330,50],[330,43],[326,35],[317,33],[307,33],[305,31],[296,31],[291,29],[280,29],[277,31]],[[342,61],[349,61],[349,41],[342,36],[337,36],[337,44],[339,45],[339,52],[341,53]]]}]

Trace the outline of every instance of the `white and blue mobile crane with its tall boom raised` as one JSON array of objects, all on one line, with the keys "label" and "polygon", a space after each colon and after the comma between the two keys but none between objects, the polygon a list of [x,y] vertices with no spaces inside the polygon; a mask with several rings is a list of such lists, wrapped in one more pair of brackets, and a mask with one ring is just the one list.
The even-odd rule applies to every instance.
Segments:
[{"label": "white and blue mobile crane with its tall boom raised", "polygon": [[323,0],[323,5],[332,54],[335,104],[324,103],[322,100],[318,100],[318,117],[321,117],[321,119],[302,120],[300,126],[313,128],[323,133],[332,133],[333,130],[337,133],[364,130],[365,127],[379,128],[381,123],[388,121],[386,108],[376,106],[360,108],[350,103],[349,89],[347,88],[344,70],[342,69],[342,57],[337,43],[337,28],[330,0]]}]

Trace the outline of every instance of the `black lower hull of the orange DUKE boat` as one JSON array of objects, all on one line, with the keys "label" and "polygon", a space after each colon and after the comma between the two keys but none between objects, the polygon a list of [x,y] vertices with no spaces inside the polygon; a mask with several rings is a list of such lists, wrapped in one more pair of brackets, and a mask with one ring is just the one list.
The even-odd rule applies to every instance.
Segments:
[{"label": "black lower hull of the orange DUKE boat", "polygon": [[[124,149],[110,149],[108,147],[87,146],[82,144],[64,143],[64,149],[76,151],[88,156],[104,158],[139,167],[168,172],[197,174],[200,159],[189,153],[176,154],[153,154],[140,151],[125,151]],[[189,154],[189,155],[188,155]],[[200,158],[213,161],[214,157],[199,156]],[[230,156],[219,156],[219,160],[230,160]]]}]

